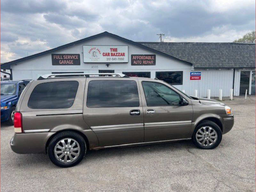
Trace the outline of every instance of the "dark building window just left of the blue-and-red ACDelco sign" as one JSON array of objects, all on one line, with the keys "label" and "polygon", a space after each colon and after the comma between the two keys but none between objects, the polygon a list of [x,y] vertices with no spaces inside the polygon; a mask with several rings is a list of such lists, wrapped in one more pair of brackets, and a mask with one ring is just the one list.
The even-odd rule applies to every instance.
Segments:
[{"label": "dark building window just left of the blue-and-red ACDelco sign", "polygon": [[182,85],[183,71],[156,72],[156,78],[172,85]]}]

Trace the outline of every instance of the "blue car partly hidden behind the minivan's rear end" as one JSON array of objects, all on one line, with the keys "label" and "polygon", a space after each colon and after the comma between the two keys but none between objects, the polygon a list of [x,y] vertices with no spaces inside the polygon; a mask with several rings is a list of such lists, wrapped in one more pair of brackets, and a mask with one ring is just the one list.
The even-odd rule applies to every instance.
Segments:
[{"label": "blue car partly hidden behind the minivan's rear end", "polygon": [[9,125],[13,125],[16,104],[29,81],[1,81],[1,122],[8,121]]}]

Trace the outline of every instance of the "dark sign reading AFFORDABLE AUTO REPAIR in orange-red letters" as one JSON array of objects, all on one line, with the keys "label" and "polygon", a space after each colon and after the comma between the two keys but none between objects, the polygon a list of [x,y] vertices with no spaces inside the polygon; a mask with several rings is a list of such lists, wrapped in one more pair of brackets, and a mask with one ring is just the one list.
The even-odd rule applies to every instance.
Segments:
[{"label": "dark sign reading AFFORDABLE AUTO REPAIR in orange-red letters", "polygon": [[156,65],[156,55],[132,55],[132,65]]}]

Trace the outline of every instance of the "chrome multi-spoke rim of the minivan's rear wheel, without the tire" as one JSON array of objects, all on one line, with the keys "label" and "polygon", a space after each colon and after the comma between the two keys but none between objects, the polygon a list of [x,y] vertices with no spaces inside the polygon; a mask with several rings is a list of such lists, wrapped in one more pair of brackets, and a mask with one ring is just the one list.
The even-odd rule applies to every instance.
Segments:
[{"label": "chrome multi-spoke rim of the minivan's rear wheel, without the tire", "polygon": [[80,155],[79,143],[71,138],[61,139],[54,147],[54,155],[61,163],[71,163]]}]

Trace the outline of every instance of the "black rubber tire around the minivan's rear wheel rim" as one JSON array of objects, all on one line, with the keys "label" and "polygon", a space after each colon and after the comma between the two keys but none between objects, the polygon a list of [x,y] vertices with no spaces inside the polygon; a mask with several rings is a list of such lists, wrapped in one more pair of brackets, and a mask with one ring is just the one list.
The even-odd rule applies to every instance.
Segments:
[{"label": "black rubber tire around the minivan's rear wheel rim", "polygon": [[[80,154],[76,157],[76,159],[74,161],[69,162],[69,163],[60,162],[55,157],[55,154],[54,154],[54,148],[55,148],[56,144],[58,142],[60,142],[60,140],[63,140],[65,138],[70,138],[70,139],[76,140],[80,147]],[[84,138],[80,134],[78,134],[76,132],[72,132],[72,131],[65,131],[65,132],[60,132],[60,133],[56,134],[50,141],[49,147],[48,147],[48,155],[49,155],[50,160],[52,161],[53,164],[55,164],[59,167],[75,166],[76,164],[80,163],[80,161],[82,161],[82,159],[85,156],[86,151],[87,151],[87,146],[86,146],[86,142],[85,142]]]}]

